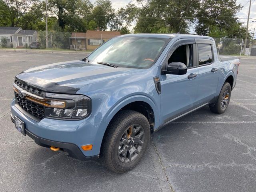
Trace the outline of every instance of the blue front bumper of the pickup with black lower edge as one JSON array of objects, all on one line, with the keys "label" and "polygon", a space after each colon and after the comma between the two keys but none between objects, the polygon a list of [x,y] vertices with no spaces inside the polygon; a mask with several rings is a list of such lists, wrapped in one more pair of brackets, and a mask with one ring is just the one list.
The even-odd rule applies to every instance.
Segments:
[{"label": "blue front bumper of the pickup with black lower edge", "polygon": [[[25,132],[36,144],[44,147],[59,147],[69,156],[79,160],[96,158],[108,124],[95,116],[78,121],[54,120],[44,118],[36,122],[11,104],[11,117],[17,116],[25,123]],[[92,150],[84,151],[81,146],[92,144]]]}]

